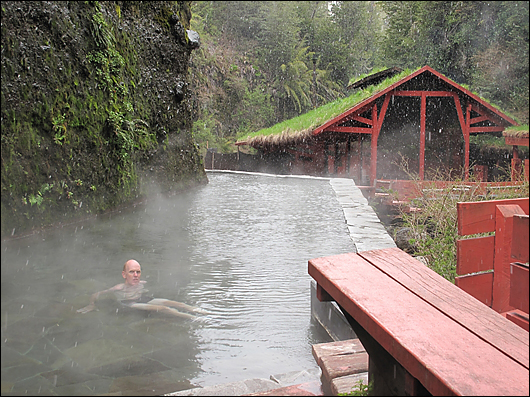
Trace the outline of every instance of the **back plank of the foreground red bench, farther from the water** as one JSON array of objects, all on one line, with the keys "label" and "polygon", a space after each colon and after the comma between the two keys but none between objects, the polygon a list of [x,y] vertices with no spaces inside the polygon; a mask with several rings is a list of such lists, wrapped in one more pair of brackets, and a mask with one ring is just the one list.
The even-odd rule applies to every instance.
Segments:
[{"label": "back plank of the foreground red bench, farther from the water", "polygon": [[[529,368],[528,333],[399,248],[359,255],[433,307]],[[521,344],[525,346],[521,351]]]}]

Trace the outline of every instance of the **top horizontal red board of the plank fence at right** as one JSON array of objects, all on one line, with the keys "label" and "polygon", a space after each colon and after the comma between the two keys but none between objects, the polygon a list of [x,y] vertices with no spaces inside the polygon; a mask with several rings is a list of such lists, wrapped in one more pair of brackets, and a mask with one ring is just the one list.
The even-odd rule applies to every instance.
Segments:
[{"label": "top horizontal red board of the plank fence at right", "polygon": [[458,234],[467,236],[495,231],[495,206],[498,204],[519,205],[528,215],[528,197],[507,200],[468,201],[457,203]]}]

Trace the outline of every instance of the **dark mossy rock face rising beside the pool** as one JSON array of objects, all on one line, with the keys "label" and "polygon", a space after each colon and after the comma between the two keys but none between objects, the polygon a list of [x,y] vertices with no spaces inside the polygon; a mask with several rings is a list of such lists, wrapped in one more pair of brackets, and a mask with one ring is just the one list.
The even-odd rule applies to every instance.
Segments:
[{"label": "dark mossy rock face rising beside the pool", "polygon": [[207,182],[190,4],[2,2],[2,237]]}]

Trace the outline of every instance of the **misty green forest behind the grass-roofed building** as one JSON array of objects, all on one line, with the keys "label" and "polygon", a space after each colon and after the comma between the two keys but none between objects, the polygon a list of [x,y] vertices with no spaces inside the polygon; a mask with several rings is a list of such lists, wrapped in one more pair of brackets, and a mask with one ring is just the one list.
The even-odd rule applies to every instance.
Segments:
[{"label": "misty green forest behind the grass-roofed building", "polygon": [[528,124],[528,1],[197,1],[193,136],[201,153],[429,65]]}]

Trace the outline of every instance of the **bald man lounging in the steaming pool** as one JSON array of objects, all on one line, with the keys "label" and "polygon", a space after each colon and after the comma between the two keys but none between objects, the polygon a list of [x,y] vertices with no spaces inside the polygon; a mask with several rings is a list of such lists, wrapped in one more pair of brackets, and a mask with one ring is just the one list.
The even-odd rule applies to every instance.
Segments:
[{"label": "bald man lounging in the steaming pool", "polygon": [[125,282],[92,294],[90,297],[90,304],[79,309],[77,312],[84,314],[94,310],[96,308],[96,300],[100,295],[114,292],[114,295],[122,305],[134,309],[156,311],[190,319],[196,319],[197,317],[191,314],[182,313],[176,308],[184,309],[192,313],[204,313],[201,309],[188,306],[185,303],[170,301],[168,299],[156,299],[152,296],[144,295],[148,290],[144,288],[145,281],[140,281],[141,274],[142,268],[140,267],[140,264],[134,259],[128,260],[123,265],[123,271],[121,272]]}]

